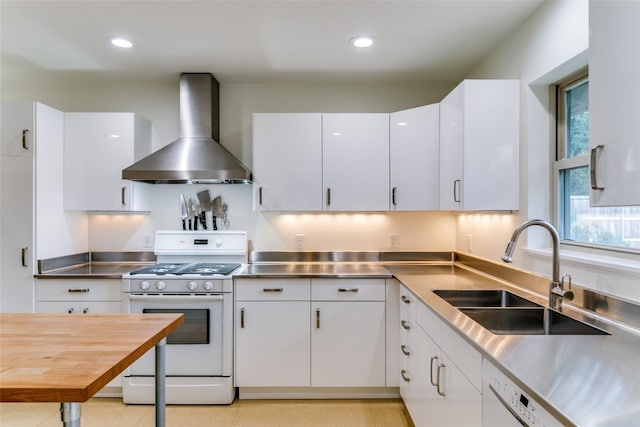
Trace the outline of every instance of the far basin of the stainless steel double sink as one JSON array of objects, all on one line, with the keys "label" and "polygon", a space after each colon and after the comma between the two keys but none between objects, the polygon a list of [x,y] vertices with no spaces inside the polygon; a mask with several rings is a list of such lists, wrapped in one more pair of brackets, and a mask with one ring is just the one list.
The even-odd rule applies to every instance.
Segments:
[{"label": "far basin of the stainless steel double sink", "polygon": [[446,289],[433,293],[454,307],[542,307],[505,290]]}]

